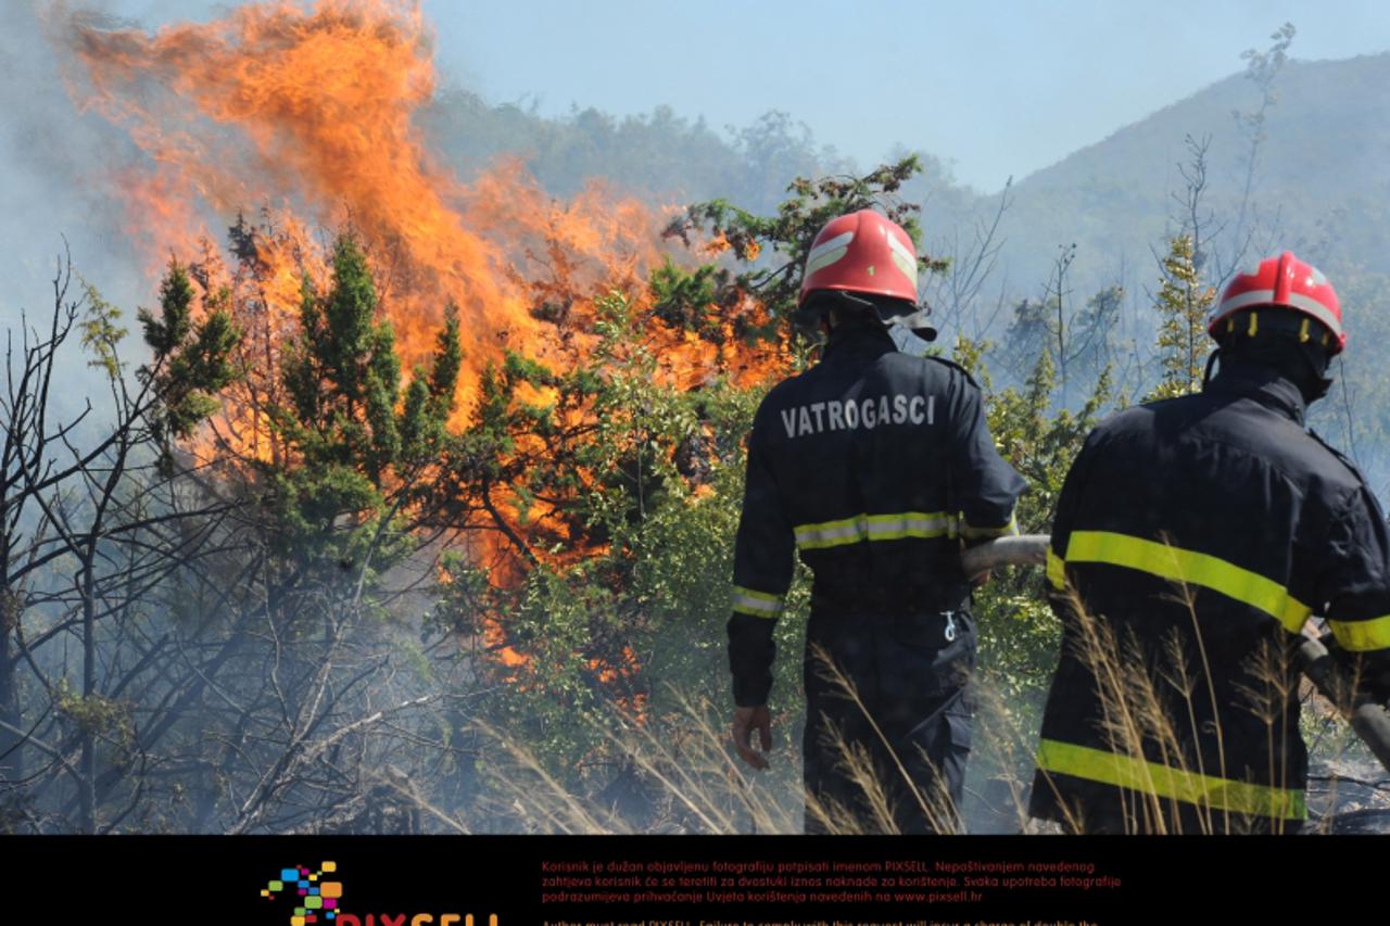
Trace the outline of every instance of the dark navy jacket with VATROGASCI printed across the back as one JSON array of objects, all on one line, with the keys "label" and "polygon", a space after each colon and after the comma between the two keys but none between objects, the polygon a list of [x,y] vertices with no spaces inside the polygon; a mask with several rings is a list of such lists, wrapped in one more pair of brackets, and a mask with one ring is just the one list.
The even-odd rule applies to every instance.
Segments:
[{"label": "dark navy jacket with VATROGASCI printed across the back", "polygon": [[837,328],[820,363],[773,388],[753,419],[728,622],[734,702],[767,702],[794,551],[815,574],[817,617],[959,609],[962,538],[1017,533],[1023,489],[965,370],[898,350],[873,323]]}]

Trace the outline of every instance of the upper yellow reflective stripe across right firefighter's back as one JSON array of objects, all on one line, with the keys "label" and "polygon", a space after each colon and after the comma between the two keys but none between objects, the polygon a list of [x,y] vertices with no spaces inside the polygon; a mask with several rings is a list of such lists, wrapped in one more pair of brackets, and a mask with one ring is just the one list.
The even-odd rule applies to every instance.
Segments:
[{"label": "upper yellow reflective stripe across right firefighter's back", "polygon": [[1176,583],[1201,585],[1265,612],[1289,633],[1298,633],[1312,608],[1289,590],[1259,573],[1225,559],[1156,541],[1111,531],[1073,531],[1066,545],[1068,563],[1126,566]]}]

